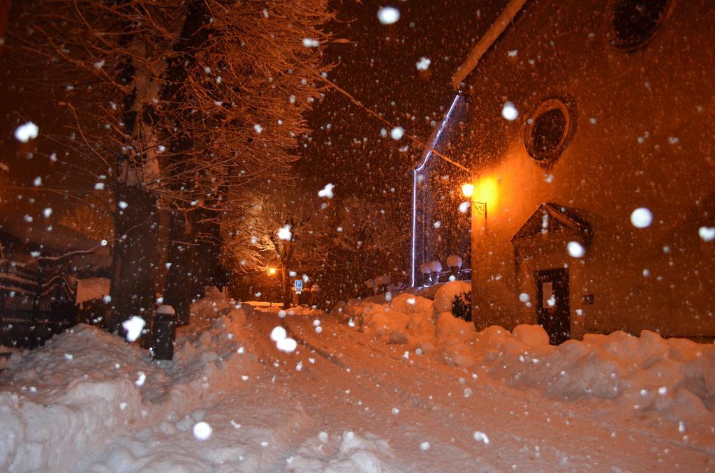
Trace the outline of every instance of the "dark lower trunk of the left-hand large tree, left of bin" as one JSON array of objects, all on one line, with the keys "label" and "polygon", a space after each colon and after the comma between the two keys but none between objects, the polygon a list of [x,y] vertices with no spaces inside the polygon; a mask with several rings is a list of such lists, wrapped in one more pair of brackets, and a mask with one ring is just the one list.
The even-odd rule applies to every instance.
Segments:
[{"label": "dark lower trunk of the left-hand large tree, left of bin", "polygon": [[139,345],[149,348],[159,250],[157,199],[150,192],[134,186],[120,187],[114,191],[114,196],[117,202],[124,201],[127,206],[122,209],[118,205],[114,211],[117,241],[114,244],[114,277],[109,291],[112,297],[109,330],[119,329],[123,334],[122,322],[132,316],[142,317],[146,325]]}]

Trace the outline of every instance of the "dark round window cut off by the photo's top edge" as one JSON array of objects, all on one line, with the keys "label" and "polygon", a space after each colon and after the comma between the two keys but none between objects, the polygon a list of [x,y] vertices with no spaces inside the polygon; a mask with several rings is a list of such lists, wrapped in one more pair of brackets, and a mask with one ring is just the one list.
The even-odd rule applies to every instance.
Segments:
[{"label": "dark round window cut off by the photo's top edge", "polygon": [[612,41],[622,49],[636,49],[661,26],[670,0],[615,0],[611,7]]}]

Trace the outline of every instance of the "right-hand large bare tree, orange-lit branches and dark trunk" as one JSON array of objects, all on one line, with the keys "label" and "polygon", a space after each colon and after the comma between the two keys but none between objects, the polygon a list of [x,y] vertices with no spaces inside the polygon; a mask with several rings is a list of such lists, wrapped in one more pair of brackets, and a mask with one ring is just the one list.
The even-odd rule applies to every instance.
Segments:
[{"label": "right-hand large bare tree, orange-lit branches and dark trunk", "polygon": [[181,198],[172,202],[165,293],[180,323],[188,322],[186,287],[225,283],[217,268],[227,201],[235,208],[247,195],[238,189],[287,179],[290,150],[310,131],[305,111],[322,95],[320,73],[330,69],[320,46],[327,41],[320,27],[331,18],[326,1],[202,5],[210,22],[203,34],[182,35],[194,46],[182,47],[189,54],[174,61],[167,87],[175,89],[169,133],[177,130],[179,159],[164,174],[175,176]]}]

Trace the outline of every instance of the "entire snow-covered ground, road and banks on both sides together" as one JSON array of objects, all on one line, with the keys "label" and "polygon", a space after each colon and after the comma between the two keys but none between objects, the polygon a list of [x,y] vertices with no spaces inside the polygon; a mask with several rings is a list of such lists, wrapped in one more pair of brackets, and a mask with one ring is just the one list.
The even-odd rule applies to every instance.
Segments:
[{"label": "entire snow-covered ground, road and banks on both sides together", "polygon": [[474,332],[447,300],[284,314],[212,294],[164,364],[79,327],[0,374],[0,470],[715,470],[715,347],[550,347],[538,327]]}]

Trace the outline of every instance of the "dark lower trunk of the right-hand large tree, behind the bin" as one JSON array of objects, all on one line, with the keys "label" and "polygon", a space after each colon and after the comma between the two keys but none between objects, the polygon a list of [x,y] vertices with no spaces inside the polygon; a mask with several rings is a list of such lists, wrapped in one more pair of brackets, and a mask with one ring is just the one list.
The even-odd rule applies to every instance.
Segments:
[{"label": "dark lower trunk of the right-hand large tree, behind the bin", "polygon": [[194,222],[191,212],[172,211],[169,216],[167,262],[171,263],[164,287],[164,304],[174,307],[177,327],[189,324],[189,309],[195,294]]}]

